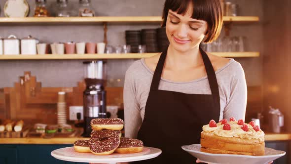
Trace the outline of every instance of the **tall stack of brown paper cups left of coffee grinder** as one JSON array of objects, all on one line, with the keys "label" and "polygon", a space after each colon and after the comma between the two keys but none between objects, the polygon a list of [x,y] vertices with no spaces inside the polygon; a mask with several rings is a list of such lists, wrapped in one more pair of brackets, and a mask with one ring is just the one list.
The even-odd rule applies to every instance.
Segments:
[{"label": "tall stack of brown paper cups left of coffee grinder", "polygon": [[59,125],[67,124],[65,92],[58,93],[57,110],[58,110],[58,124]]}]

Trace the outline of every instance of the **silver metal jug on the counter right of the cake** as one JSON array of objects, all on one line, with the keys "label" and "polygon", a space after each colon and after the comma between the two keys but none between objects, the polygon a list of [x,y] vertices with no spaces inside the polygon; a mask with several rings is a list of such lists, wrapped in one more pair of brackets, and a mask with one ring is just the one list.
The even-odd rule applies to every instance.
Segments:
[{"label": "silver metal jug on the counter right of the cake", "polygon": [[281,127],[284,126],[284,115],[279,109],[269,107],[269,127],[271,132],[280,133]]}]

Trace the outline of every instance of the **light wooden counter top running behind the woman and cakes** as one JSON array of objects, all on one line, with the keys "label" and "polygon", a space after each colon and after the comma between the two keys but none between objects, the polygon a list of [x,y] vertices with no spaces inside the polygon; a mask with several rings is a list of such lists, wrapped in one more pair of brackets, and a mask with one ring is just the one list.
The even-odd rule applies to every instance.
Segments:
[{"label": "light wooden counter top running behind the woman and cakes", "polygon": [[[0,138],[0,144],[73,144],[77,139],[89,138]],[[291,133],[267,133],[265,141],[291,140]]]}]

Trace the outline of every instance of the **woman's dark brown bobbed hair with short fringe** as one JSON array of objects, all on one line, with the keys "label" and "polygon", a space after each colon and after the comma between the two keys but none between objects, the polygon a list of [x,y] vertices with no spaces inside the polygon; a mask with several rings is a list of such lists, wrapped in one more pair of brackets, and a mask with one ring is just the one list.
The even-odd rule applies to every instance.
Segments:
[{"label": "woman's dark brown bobbed hair with short fringe", "polygon": [[[204,42],[208,43],[218,38],[223,23],[219,0],[169,0],[164,6],[162,27],[166,26],[168,18],[175,17],[180,20],[173,11],[182,16],[190,16],[190,18],[188,17],[190,19],[189,26],[193,30],[198,30],[197,24],[199,23],[207,24],[207,37]],[[176,24],[179,21],[172,23]]]}]

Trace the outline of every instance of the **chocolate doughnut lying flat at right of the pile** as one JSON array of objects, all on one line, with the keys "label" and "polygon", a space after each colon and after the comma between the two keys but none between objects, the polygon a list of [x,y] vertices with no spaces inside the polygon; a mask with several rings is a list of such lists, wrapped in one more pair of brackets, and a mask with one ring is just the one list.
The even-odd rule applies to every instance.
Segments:
[{"label": "chocolate doughnut lying flat at right of the pile", "polygon": [[133,138],[121,137],[119,147],[115,150],[115,153],[138,153],[143,151],[143,149],[143,141]]}]

